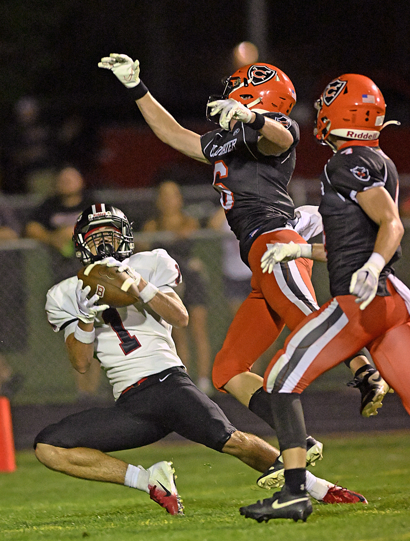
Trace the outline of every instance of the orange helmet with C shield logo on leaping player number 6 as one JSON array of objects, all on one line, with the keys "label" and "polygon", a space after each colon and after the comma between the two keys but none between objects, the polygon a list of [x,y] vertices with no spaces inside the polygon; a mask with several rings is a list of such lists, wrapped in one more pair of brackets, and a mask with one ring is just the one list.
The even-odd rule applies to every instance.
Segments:
[{"label": "orange helmet with C shield logo on leaping player number 6", "polygon": [[[222,96],[210,96],[209,101],[233,98],[248,109],[262,109],[288,115],[296,103],[295,88],[289,77],[271,64],[248,64],[228,77]],[[218,123],[219,118],[209,117]]]}]

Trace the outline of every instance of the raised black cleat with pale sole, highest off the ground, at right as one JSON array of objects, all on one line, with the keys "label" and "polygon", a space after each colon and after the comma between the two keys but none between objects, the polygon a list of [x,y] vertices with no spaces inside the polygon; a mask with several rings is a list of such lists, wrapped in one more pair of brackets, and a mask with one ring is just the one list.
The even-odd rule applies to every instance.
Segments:
[{"label": "raised black cleat with pale sole, highest off the ground, at right", "polygon": [[394,391],[383,380],[376,368],[373,366],[364,368],[365,370],[349,381],[347,386],[359,389],[361,393],[360,413],[363,417],[372,417],[372,415],[378,414],[377,410],[383,405],[381,401],[385,395]]}]

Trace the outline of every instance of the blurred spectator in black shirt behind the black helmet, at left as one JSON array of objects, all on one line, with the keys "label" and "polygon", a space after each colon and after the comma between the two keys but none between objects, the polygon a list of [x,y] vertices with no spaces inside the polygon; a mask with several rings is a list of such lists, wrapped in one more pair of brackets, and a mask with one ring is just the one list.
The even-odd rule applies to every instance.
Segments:
[{"label": "blurred spectator in black shirt behind the black helmet, at left", "polygon": [[[72,232],[78,215],[95,203],[84,187],[83,177],[72,166],[63,167],[56,176],[55,195],[48,197],[32,212],[24,235],[44,242],[52,250],[50,258],[53,280],[59,282],[76,275],[81,263],[75,257]],[[100,386],[100,364],[95,360],[90,370],[80,374],[73,370],[78,400],[94,403]]]}]

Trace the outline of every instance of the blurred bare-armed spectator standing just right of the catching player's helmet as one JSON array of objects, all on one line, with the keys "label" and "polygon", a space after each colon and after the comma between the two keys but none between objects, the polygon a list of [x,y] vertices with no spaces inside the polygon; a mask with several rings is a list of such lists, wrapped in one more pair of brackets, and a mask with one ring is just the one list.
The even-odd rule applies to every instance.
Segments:
[{"label": "blurred bare-armed spectator standing just right of the catching player's helmet", "polygon": [[[144,232],[170,232],[173,239],[161,239],[158,247],[165,248],[180,266],[182,273],[180,294],[188,309],[188,332],[196,347],[196,384],[205,393],[211,393],[210,380],[211,349],[208,337],[207,285],[204,263],[192,254],[191,234],[200,229],[198,220],[183,212],[183,199],[180,187],[172,181],[164,181],[158,188],[156,199],[157,216],[147,221]],[[147,247],[148,248],[148,247]],[[155,246],[150,246],[153,249]],[[174,328],[173,338],[178,355],[190,372],[189,340],[186,328]]]}]

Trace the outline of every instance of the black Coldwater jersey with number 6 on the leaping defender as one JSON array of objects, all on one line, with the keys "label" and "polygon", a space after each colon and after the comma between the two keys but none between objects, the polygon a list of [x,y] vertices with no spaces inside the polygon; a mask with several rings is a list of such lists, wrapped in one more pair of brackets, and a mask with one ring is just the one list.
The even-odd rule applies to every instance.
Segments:
[{"label": "black Coldwater jersey with number 6 on the leaping defender", "polygon": [[214,188],[221,194],[230,228],[240,241],[241,258],[257,236],[284,227],[294,217],[287,186],[295,168],[299,126],[282,113],[267,113],[290,131],[292,146],[280,156],[264,156],[257,149],[261,134],[236,122],[232,130],[218,129],[202,135],[204,156],[214,166]]}]

